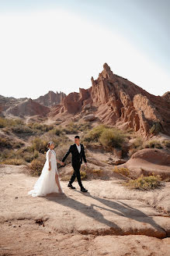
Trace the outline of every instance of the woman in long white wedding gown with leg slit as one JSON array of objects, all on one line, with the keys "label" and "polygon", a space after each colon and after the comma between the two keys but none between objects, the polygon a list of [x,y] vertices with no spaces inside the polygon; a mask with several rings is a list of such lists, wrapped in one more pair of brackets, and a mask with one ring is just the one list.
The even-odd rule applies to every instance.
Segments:
[{"label": "woman in long white wedding gown with leg slit", "polygon": [[57,162],[60,162],[61,165],[64,164],[56,159],[53,141],[48,143],[48,148],[49,149],[46,153],[46,162],[45,165],[43,165],[41,175],[36,181],[33,190],[28,192],[32,197],[44,197],[47,194],[54,192],[64,194],[57,172]]}]

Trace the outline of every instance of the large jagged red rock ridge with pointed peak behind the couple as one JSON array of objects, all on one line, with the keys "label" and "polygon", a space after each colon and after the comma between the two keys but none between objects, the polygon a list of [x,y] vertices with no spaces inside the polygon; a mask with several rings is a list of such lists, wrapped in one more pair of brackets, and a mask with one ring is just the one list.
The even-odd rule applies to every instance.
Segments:
[{"label": "large jagged red rock ridge with pointed peak behind the couple", "polygon": [[103,65],[97,80],[92,77],[92,87],[68,94],[57,112],[76,114],[91,103],[95,114],[103,123],[132,128],[148,136],[151,126],[157,123],[161,132],[170,135],[170,101],[167,96],[154,96],[129,80],[113,74]]}]

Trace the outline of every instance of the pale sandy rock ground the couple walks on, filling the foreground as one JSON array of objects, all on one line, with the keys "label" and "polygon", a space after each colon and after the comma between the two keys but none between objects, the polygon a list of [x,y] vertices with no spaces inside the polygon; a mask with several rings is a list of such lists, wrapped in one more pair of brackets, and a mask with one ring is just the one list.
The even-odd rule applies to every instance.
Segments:
[{"label": "pale sandy rock ground the couple walks on, filling the foreground", "polygon": [[31,197],[36,177],[0,165],[0,255],[169,255],[170,183],[128,190],[120,180],[85,181],[89,193]]}]

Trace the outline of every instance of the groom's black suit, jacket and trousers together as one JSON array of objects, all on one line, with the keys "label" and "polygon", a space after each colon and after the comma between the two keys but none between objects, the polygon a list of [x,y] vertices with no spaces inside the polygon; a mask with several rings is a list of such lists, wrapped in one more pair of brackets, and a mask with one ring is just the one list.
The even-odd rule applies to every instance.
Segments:
[{"label": "groom's black suit, jacket and trousers together", "polygon": [[73,183],[75,181],[75,177],[77,177],[78,179],[78,184],[80,187],[82,187],[82,181],[81,181],[81,176],[80,176],[80,167],[82,164],[82,158],[84,160],[84,162],[87,162],[86,158],[85,158],[85,149],[83,144],[81,145],[81,151],[80,153],[78,152],[78,148],[76,146],[76,144],[73,144],[70,146],[70,148],[68,149],[68,152],[64,155],[64,158],[62,159],[62,162],[65,161],[65,159],[68,157],[68,155],[71,153],[72,155],[72,166],[74,169],[74,173],[71,176],[71,180],[69,183]]}]

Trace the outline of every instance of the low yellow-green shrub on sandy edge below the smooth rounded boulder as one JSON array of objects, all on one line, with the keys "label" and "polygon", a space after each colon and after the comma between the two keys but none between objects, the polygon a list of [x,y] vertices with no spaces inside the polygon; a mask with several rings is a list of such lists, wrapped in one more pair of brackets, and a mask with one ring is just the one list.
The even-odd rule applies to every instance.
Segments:
[{"label": "low yellow-green shrub on sandy edge below the smooth rounded boulder", "polygon": [[129,180],[124,183],[126,187],[137,190],[154,190],[161,187],[161,177],[159,175],[143,176],[141,175],[136,180]]}]

